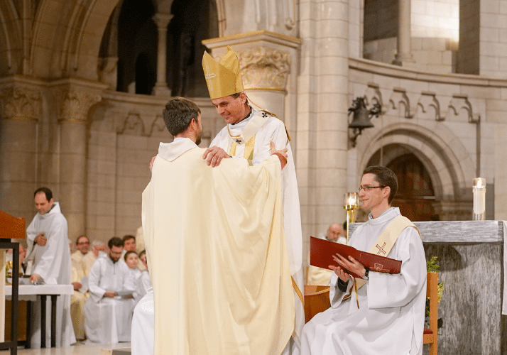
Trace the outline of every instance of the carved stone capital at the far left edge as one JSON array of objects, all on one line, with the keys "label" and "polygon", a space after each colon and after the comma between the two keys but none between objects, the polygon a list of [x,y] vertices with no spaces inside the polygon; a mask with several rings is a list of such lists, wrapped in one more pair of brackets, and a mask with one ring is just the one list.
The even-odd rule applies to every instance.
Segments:
[{"label": "carved stone capital at the far left edge", "polygon": [[14,85],[0,89],[1,117],[17,121],[38,121],[40,90]]}]

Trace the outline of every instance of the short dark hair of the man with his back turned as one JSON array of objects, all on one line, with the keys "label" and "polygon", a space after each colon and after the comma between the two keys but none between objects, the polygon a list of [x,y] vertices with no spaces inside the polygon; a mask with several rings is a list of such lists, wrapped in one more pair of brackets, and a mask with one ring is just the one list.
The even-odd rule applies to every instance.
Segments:
[{"label": "short dark hair of the man with his back turned", "polygon": [[192,119],[197,122],[201,110],[196,104],[183,97],[177,97],[165,104],[162,111],[165,126],[173,136],[185,132]]}]

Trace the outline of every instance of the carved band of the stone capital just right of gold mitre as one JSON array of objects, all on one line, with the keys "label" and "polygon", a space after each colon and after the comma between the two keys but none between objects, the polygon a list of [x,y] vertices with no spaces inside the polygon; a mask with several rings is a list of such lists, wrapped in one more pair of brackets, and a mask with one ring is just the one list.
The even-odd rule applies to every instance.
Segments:
[{"label": "carved band of the stone capital just right of gold mitre", "polygon": [[290,55],[284,50],[257,47],[238,53],[245,89],[285,91]]}]

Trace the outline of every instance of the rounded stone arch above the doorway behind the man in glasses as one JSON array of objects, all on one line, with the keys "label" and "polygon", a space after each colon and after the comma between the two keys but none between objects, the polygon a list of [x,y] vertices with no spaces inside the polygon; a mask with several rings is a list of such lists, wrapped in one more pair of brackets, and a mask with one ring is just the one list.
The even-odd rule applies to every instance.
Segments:
[{"label": "rounded stone arch above the doorway behind the man in glasses", "polygon": [[467,199],[467,188],[474,178],[474,163],[459,138],[444,124],[435,121],[434,128],[412,123],[389,124],[370,133],[357,146],[361,157],[359,176],[374,153],[389,144],[403,146],[423,162],[432,179],[437,200]]}]

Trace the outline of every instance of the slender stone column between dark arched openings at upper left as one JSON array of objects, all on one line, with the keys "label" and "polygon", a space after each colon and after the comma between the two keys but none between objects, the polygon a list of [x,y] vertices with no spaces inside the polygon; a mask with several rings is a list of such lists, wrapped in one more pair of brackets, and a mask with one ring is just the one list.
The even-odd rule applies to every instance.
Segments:
[{"label": "slender stone column between dark arched openings at upper left", "polygon": [[153,16],[158,27],[158,57],[157,57],[157,82],[153,87],[153,94],[157,96],[170,96],[170,89],[166,79],[167,67],[167,33],[168,24],[173,15],[168,13],[156,13]]}]

